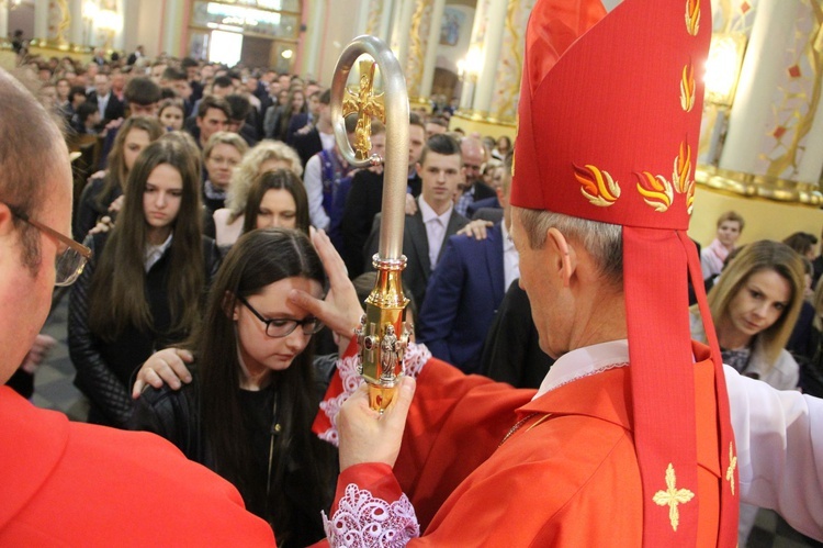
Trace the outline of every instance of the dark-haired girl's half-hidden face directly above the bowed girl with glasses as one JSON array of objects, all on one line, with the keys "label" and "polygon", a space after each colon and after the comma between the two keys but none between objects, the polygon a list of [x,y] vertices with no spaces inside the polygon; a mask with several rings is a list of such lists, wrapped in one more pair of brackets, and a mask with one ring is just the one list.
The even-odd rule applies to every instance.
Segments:
[{"label": "dark-haired girl's half-hidden face directly above the bowed girl with glasses", "polygon": [[303,181],[288,169],[261,174],[249,189],[243,232],[297,228],[308,234],[308,197]]}]

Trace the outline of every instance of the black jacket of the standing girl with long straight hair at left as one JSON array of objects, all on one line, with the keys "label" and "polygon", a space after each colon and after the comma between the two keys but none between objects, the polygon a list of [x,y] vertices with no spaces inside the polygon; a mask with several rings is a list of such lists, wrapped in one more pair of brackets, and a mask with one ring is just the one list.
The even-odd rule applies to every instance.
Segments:
[{"label": "black jacket of the standing girl with long straight hair at left", "polygon": [[[69,356],[77,370],[75,385],[91,403],[90,421],[122,428],[132,414],[132,376],[151,354],[180,343],[188,333],[169,333],[172,320],[166,278],[170,268],[170,249],[146,275],[146,299],[154,320],[153,328],[149,332],[127,329],[113,342],[105,342],[92,333],[89,326],[89,292],[97,256],[102,253],[108,236],[95,234],[86,239],[86,245],[94,255],[69,298],[68,343]],[[205,294],[221,261],[217,246],[207,237],[203,237],[203,259],[207,280]]]}]

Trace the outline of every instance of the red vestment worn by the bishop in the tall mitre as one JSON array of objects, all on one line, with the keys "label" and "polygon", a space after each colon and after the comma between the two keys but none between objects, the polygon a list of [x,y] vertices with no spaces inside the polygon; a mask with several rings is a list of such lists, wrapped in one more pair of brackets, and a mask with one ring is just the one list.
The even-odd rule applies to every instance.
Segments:
[{"label": "red vestment worn by the bishop in the tall mitre", "polygon": [[[717,455],[713,365],[707,347],[695,345],[695,355],[698,485],[675,488],[699,494],[698,546],[714,546],[725,470]],[[414,546],[640,546],[630,372],[616,367],[530,401],[533,391],[429,360],[394,476],[384,465],[345,470],[330,525],[347,487],[356,484],[388,503],[407,494],[422,530]],[[659,489],[667,491],[665,470]],[[669,521],[668,505],[659,513]]]}]

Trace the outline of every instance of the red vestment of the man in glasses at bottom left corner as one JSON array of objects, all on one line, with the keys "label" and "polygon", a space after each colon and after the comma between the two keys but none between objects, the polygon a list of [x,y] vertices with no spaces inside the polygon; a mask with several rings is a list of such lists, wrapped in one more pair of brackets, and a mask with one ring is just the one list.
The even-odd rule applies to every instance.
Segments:
[{"label": "red vestment of the man in glasses at bottom left corner", "polygon": [[0,387],[0,546],[274,546],[237,490],[154,434]]}]

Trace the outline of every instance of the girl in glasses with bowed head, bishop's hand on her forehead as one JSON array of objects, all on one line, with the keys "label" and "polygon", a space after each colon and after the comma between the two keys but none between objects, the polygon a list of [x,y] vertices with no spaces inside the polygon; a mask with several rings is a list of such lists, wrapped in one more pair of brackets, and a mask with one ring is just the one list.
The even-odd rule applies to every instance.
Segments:
[{"label": "girl in glasses with bowed head, bishop's hand on her forehead", "polygon": [[[328,238],[315,234],[314,241],[323,262],[302,232],[243,235],[212,286],[199,336],[185,345],[196,356],[194,382],[180,391],[148,389],[131,423],[232,481],[246,507],[271,524],[281,547],[325,536],[320,511],[331,502],[336,479],[334,449],[311,432],[322,396],[316,383],[328,379],[327,371],[315,378],[312,356],[323,324],[295,304],[294,294],[319,299],[326,269],[323,318],[343,347],[361,313]],[[143,370],[168,367],[182,353],[162,350]]]}]

